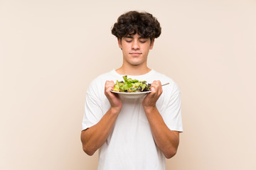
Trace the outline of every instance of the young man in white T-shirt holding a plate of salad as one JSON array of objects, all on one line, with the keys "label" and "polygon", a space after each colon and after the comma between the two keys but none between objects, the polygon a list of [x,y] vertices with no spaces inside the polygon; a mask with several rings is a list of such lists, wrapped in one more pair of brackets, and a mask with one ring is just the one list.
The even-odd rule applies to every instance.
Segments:
[{"label": "young man in white T-shirt holding a plate of salad", "polygon": [[[129,11],[119,16],[112,34],[123,64],[94,79],[87,89],[82,148],[88,155],[99,149],[98,169],[165,169],[165,157],[176,154],[183,128],[178,86],[146,65],[160,24],[150,13]],[[112,93],[114,82],[124,75],[151,83],[151,93],[133,99]],[[162,87],[165,83],[169,85]]]}]

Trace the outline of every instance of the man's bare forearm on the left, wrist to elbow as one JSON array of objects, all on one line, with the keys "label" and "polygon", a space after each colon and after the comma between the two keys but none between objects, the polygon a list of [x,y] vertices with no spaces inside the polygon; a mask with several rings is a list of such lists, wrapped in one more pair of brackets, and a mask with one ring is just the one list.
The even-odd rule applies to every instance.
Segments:
[{"label": "man's bare forearm on the left, wrist to elbow", "polygon": [[110,110],[105,113],[99,123],[93,125],[87,130],[82,130],[82,149],[86,154],[94,154],[97,149],[99,149],[104,144],[104,142],[107,140],[107,137],[110,135],[119,112],[120,111],[110,108]]}]

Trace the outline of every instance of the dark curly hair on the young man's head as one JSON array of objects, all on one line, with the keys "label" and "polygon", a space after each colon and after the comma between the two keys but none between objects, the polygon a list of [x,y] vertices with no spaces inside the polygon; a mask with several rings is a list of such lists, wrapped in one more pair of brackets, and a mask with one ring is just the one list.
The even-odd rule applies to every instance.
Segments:
[{"label": "dark curly hair on the young man's head", "polygon": [[161,34],[159,21],[151,13],[129,11],[122,14],[112,27],[112,34],[117,38],[138,33],[142,38],[158,38]]}]

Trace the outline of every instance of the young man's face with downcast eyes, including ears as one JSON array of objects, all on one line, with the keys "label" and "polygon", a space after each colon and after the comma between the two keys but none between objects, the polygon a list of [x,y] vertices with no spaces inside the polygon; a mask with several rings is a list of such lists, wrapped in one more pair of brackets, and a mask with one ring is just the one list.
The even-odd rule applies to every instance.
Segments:
[{"label": "young man's face with downcast eyes, including ears", "polygon": [[118,38],[119,47],[122,48],[124,64],[141,65],[146,64],[149,50],[153,48],[154,40],[142,38],[139,34],[127,35]]}]

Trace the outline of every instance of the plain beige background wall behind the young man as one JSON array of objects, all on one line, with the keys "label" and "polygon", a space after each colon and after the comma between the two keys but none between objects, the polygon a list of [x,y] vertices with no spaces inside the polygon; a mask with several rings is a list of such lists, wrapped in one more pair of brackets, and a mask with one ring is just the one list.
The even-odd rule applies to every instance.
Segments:
[{"label": "plain beige background wall behind the young man", "polygon": [[0,169],[96,169],[82,152],[85,93],[120,67],[125,11],[162,26],[149,67],[181,89],[172,170],[255,170],[256,1],[0,1]]}]

